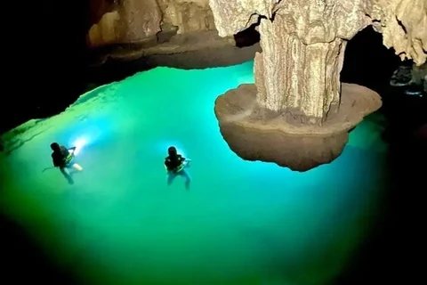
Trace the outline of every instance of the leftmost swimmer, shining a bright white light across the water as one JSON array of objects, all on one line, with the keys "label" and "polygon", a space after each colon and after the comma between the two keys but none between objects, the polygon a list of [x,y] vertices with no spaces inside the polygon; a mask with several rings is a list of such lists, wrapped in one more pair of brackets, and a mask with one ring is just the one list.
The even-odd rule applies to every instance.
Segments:
[{"label": "leftmost swimmer, shining a bright white light across the water", "polygon": [[[59,167],[60,173],[68,180],[68,183],[73,184],[73,178],[71,175],[75,172],[80,172],[83,170],[83,167],[79,166],[74,162],[73,152],[76,151],[76,147],[67,149],[63,145],[59,145],[57,142],[52,142],[52,162],[53,167]],[[69,172],[68,169],[72,169],[73,172]]]}]

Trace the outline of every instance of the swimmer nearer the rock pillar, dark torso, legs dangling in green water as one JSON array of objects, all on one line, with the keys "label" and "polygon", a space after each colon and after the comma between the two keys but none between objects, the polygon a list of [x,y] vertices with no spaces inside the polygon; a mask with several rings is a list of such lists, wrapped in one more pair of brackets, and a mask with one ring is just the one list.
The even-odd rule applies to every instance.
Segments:
[{"label": "swimmer nearer the rock pillar, dark torso, legs dangling in green water", "polygon": [[189,190],[189,183],[191,179],[189,174],[185,171],[185,168],[189,167],[189,159],[183,158],[181,154],[178,154],[176,148],[171,146],[167,149],[168,157],[165,158],[165,168],[167,171],[167,185],[173,183],[173,179],[176,176],[182,176],[185,178],[185,189]]}]

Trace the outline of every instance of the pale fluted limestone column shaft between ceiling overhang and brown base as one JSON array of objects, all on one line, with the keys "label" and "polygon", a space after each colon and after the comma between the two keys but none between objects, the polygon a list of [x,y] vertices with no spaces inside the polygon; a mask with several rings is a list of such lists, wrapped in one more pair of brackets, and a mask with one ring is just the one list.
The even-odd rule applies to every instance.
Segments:
[{"label": "pale fluted limestone column shaft between ceiling overhang and brown base", "polygon": [[281,15],[276,24],[261,21],[262,53],[255,55],[254,63],[258,102],[269,110],[294,110],[294,116],[317,123],[339,103],[346,43],[334,38],[305,45],[283,30],[285,21]]}]

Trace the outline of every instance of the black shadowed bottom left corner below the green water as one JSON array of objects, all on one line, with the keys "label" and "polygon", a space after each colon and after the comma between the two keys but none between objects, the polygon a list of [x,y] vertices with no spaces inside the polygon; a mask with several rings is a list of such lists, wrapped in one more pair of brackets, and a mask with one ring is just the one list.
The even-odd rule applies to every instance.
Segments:
[{"label": "black shadowed bottom left corner below the green water", "polygon": [[78,283],[71,273],[54,265],[19,224],[3,214],[0,215],[0,232],[1,284],[27,284],[28,281],[34,284]]}]

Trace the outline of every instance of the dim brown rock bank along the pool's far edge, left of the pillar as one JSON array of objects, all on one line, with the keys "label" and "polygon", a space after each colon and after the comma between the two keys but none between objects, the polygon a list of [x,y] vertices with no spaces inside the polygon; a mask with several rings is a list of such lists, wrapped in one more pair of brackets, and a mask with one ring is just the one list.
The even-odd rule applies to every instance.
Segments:
[{"label": "dim brown rock bank along the pool's far edge, left of the pillar", "polygon": [[250,44],[253,43],[238,47],[234,38],[222,38],[216,31],[207,31],[175,35],[154,46],[117,45],[92,54],[87,78],[101,85],[159,66],[206,69],[240,64],[254,60],[254,54],[261,51],[259,44]]}]

